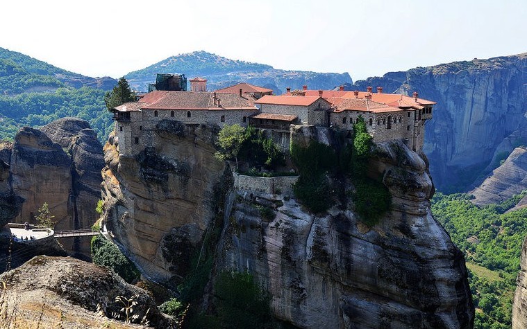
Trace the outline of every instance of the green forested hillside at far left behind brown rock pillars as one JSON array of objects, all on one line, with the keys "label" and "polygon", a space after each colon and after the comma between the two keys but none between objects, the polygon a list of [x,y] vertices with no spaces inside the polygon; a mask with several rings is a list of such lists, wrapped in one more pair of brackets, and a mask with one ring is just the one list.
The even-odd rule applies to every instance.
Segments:
[{"label": "green forested hillside at far left behind brown rock pillars", "polygon": [[77,116],[104,141],[112,121],[103,97],[113,85],[112,78],[85,77],[0,48],[0,139],[12,139],[25,125]]}]

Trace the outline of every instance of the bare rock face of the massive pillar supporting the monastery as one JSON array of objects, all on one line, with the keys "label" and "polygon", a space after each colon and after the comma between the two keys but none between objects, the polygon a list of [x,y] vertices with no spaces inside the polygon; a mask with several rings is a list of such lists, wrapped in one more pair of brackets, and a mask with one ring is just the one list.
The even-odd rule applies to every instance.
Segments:
[{"label": "bare rock face of the massive pillar supporting the monastery", "polygon": [[[315,216],[294,197],[229,190],[231,172],[213,158],[213,131],[173,126],[158,127],[155,148],[135,157],[119,155],[112,136],[105,146],[108,226],[149,276],[181,281],[219,220],[220,238],[210,242],[215,273],[248,270],[269,290],[276,317],[294,326],[473,326],[465,260],[430,213],[424,154],[402,142],[379,145],[371,175],[390,189],[392,208],[370,229],[349,200]],[[294,138],[331,141],[328,130],[312,129]],[[273,219],[262,217],[262,207]]]}]

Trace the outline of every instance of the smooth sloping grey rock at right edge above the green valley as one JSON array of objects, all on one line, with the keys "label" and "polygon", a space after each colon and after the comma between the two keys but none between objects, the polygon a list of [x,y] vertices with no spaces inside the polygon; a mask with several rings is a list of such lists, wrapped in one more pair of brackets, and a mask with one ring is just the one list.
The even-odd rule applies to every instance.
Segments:
[{"label": "smooth sloping grey rock at right edge above the green valley", "polygon": [[527,190],[527,148],[515,148],[505,162],[471,194],[475,204],[495,204]]}]

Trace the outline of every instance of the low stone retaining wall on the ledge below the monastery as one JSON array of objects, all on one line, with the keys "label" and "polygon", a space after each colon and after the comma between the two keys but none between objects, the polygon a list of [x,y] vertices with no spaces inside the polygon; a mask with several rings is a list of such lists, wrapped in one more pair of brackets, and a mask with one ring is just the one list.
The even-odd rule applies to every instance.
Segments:
[{"label": "low stone retaining wall on the ledge below the monastery", "polygon": [[299,176],[255,177],[239,175],[236,172],[233,172],[233,176],[235,188],[267,194],[275,194],[277,190],[280,190],[281,193],[291,193],[292,184],[299,179]]}]

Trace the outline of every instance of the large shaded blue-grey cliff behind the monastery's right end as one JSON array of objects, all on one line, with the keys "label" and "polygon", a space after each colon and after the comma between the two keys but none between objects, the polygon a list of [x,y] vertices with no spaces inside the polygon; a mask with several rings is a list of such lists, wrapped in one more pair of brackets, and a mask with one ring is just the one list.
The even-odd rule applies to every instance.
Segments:
[{"label": "large shaded blue-grey cliff behind the monastery's right end", "polygon": [[[386,73],[348,89],[371,85],[383,86],[388,93],[417,90],[420,97],[437,102],[426,127],[424,152],[435,184],[441,190],[459,190],[467,188],[502,141],[525,124],[526,83],[523,53]],[[525,131],[517,135],[515,147],[527,143]]]}]

